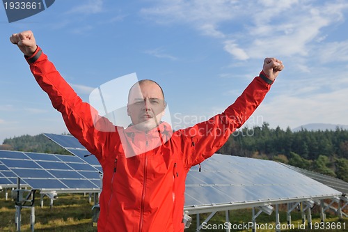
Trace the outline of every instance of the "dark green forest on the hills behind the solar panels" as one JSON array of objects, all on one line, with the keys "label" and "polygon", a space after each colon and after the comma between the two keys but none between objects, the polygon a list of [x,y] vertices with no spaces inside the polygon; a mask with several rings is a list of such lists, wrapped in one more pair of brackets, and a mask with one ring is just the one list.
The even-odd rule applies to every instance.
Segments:
[{"label": "dark green forest on the hills behind the solar panels", "polygon": [[[66,150],[43,134],[5,139],[2,150],[67,154]],[[280,127],[244,127],[231,134],[217,153],[274,160],[308,169],[348,182],[348,130],[300,130]]]}]

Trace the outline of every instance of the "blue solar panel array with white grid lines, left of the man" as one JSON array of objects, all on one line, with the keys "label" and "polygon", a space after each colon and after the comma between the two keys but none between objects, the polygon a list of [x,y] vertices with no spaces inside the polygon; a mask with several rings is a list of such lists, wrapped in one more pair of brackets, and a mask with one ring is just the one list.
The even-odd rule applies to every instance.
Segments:
[{"label": "blue solar panel array with white grid lines, left of the man", "polygon": [[[14,173],[41,192],[99,192],[100,172],[79,157],[0,150],[3,173]],[[1,170],[2,170],[1,169]],[[0,178],[0,180],[5,178]],[[8,178],[9,179],[9,178]],[[3,181],[5,182],[5,181]]]}]

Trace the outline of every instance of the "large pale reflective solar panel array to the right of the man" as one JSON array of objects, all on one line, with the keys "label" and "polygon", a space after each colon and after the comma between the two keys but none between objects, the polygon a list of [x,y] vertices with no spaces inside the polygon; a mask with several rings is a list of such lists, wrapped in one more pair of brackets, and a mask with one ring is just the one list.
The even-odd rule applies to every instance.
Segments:
[{"label": "large pale reflective solar panel array to the right of the man", "polygon": [[185,208],[326,199],[342,193],[278,162],[215,154],[187,175]]}]

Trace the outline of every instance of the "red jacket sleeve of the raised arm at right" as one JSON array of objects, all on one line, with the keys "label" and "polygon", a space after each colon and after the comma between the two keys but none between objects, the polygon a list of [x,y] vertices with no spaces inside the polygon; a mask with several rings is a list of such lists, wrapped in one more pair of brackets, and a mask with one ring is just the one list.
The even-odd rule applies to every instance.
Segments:
[{"label": "red jacket sleeve of the raised arm at right", "polygon": [[187,169],[200,164],[226,143],[230,134],[241,127],[260,105],[272,83],[260,72],[260,76],[255,77],[235,103],[222,114],[175,132],[181,139],[183,160]]}]

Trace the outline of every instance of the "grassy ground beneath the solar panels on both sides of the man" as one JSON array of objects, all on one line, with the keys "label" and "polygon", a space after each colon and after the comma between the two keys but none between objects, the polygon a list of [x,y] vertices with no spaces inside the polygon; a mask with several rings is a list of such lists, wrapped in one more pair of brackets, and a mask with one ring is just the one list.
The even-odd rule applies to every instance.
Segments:
[{"label": "grassy ground beneath the solar panels on both sides of the man", "polygon": [[[49,207],[49,199],[45,197],[44,207],[41,208],[40,205],[40,195],[36,198],[35,204],[35,231],[97,231],[95,227],[92,226],[92,207],[93,203],[88,203],[88,196],[84,194],[59,194],[58,199],[54,201],[54,207]],[[326,222],[331,224],[326,224],[328,229],[315,229],[315,222],[319,223],[319,214],[313,210],[313,229],[299,228],[302,225],[301,213],[292,212],[292,224],[293,227],[290,229],[284,229],[282,231],[348,231],[348,219],[338,219],[335,215],[326,213]],[[251,209],[245,210],[232,210],[230,211],[230,222],[231,226],[248,224],[251,221]],[[185,232],[196,231],[196,216],[193,217],[193,222],[189,229]],[[203,222],[208,214],[200,215],[200,222]],[[262,213],[257,218],[257,224],[260,228],[258,231],[274,231],[270,229],[271,226],[275,228],[275,215],[265,215]],[[206,226],[207,229],[201,231],[226,231],[225,228],[219,229],[219,225],[222,226],[225,222],[225,212],[218,212],[209,221],[210,226]],[[30,231],[30,210],[28,208],[22,209],[22,227],[21,231]],[[280,212],[280,223],[282,226],[286,226],[286,213]],[[267,227],[266,227],[267,224]],[[318,225],[318,224],[317,224]],[[341,225],[341,229],[332,229],[332,226]],[[261,227],[264,226],[264,227]],[[345,226],[345,229],[343,228]],[[231,231],[250,231],[245,229],[233,229]],[[15,228],[15,203],[12,200],[5,201],[4,192],[0,192],[0,231],[16,231]],[[165,232],[165,231],[164,231]]]}]

